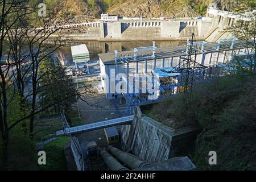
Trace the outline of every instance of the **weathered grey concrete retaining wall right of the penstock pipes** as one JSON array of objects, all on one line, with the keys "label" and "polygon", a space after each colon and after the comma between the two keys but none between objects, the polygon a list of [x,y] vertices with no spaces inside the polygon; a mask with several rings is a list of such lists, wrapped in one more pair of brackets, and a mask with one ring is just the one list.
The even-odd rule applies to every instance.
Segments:
[{"label": "weathered grey concrete retaining wall right of the penstock pipes", "polygon": [[[185,170],[190,170],[195,169],[195,166],[188,158],[172,158],[192,155],[194,148],[191,148],[191,146],[194,146],[197,134],[199,134],[198,129],[182,128],[173,130],[154,119],[146,117],[137,107],[131,125],[122,126],[122,149],[132,151],[139,159],[147,161],[153,166],[160,167],[163,165],[160,167],[163,170],[176,170],[177,168],[182,170],[182,167],[185,167]],[[150,166],[146,168],[148,170],[160,169],[158,167],[151,168]]]}]

